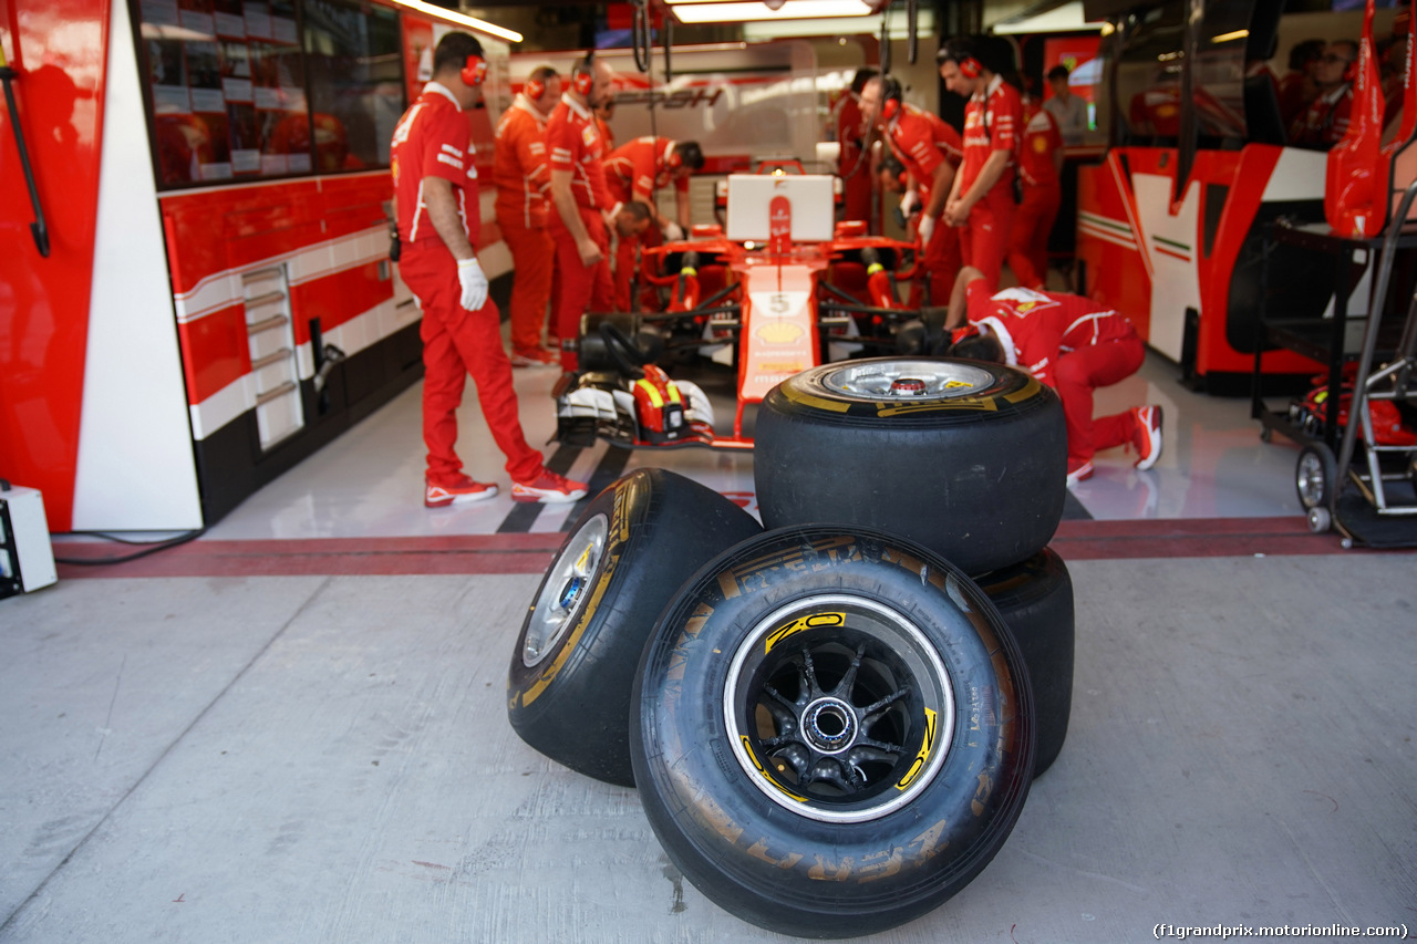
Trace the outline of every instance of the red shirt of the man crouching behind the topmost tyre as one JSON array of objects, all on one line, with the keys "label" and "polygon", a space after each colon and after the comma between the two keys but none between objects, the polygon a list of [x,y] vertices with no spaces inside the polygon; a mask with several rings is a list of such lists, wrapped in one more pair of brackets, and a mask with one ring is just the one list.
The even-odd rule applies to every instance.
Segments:
[{"label": "red shirt of the man crouching behind the topmost tyre", "polygon": [[1080,295],[1010,288],[995,295],[983,279],[969,283],[969,322],[988,325],[1009,366],[1023,367],[1049,387],[1060,354],[1135,336],[1125,315]]}]

